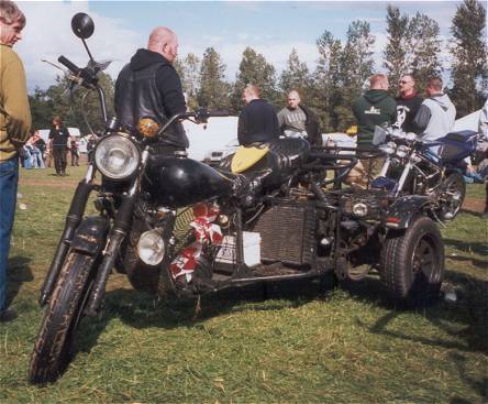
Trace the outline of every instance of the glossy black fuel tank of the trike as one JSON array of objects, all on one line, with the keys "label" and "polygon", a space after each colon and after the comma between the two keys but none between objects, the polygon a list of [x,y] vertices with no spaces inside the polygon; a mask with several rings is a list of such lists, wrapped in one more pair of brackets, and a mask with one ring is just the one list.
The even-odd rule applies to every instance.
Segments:
[{"label": "glossy black fuel tank of the trike", "polygon": [[158,204],[179,208],[231,195],[232,179],[191,159],[153,156],[143,187]]}]

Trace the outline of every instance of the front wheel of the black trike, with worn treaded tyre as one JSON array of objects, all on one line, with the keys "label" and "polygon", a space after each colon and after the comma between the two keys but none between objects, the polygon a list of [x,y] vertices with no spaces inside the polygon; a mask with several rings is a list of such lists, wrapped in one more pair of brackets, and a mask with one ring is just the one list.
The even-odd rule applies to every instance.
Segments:
[{"label": "front wheel of the black trike, with worn treaded tyre", "polygon": [[93,256],[71,251],[60,271],[56,287],[35,341],[29,364],[29,381],[55,381],[71,359],[74,337],[82,317],[91,285]]}]

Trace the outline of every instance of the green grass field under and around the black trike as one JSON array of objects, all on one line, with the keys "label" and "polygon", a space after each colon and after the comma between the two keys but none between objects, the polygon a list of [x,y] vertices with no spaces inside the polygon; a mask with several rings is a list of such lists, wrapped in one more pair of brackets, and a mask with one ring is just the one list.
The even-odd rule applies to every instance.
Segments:
[{"label": "green grass field under and around the black trike", "polygon": [[[456,302],[400,310],[373,275],[325,293],[315,283],[233,291],[204,298],[196,315],[117,274],[63,378],[29,385],[38,290],[84,167],[65,178],[52,171],[21,172],[9,284],[19,317],[0,325],[1,403],[488,401],[488,222],[473,212],[443,230]],[[468,195],[483,189],[469,185]]]}]

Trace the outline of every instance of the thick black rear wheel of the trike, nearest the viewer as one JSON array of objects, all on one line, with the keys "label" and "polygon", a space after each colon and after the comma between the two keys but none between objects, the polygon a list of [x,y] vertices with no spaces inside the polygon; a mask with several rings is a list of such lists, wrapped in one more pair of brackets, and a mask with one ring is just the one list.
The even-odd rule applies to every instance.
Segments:
[{"label": "thick black rear wheel of the trike, nearest the viewer", "polygon": [[381,250],[380,275],[397,302],[422,306],[439,295],[444,243],[433,220],[420,217],[406,231],[388,234]]}]

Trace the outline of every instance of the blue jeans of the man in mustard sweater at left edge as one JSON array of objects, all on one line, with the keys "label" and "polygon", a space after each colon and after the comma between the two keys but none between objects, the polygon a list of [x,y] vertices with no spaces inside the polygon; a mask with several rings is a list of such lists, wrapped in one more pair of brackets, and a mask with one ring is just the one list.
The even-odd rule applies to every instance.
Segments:
[{"label": "blue jeans of the man in mustard sweater at left edge", "polygon": [[0,310],[7,308],[7,265],[15,216],[19,157],[0,162]]}]

